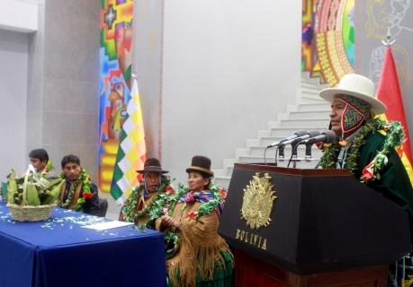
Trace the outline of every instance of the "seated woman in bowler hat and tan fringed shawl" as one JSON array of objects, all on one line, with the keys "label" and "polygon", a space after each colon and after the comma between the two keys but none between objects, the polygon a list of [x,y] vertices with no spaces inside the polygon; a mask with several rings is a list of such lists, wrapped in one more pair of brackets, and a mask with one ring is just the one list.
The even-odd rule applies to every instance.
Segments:
[{"label": "seated woman in bowler hat and tan fringed shawl", "polygon": [[209,158],[194,156],[186,172],[189,187],[179,188],[156,224],[175,243],[166,257],[168,285],[231,286],[233,256],[217,233],[226,192],[211,186]]}]

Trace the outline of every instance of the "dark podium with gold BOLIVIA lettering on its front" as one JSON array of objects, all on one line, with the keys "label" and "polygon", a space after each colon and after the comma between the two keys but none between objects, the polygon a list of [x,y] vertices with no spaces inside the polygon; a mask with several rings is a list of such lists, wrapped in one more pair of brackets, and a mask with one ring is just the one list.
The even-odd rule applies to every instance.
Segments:
[{"label": "dark podium with gold BOLIVIA lettering on its front", "polygon": [[[241,209],[257,172],[276,198],[269,224],[252,229]],[[259,217],[267,203],[254,204],[248,216]],[[236,286],[385,287],[388,265],[410,251],[408,214],[347,170],[236,164],[219,233],[234,248]]]}]

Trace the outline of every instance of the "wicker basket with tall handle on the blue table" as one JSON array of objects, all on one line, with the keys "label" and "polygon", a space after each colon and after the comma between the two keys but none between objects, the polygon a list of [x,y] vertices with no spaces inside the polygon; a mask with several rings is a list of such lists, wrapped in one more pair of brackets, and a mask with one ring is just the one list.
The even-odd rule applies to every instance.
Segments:
[{"label": "wicker basket with tall handle on the blue table", "polygon": [[26,171],[23,183],[22,192],[22,204],[7,204],[10,213],[12,213],[13,220],[17,222],[40,222],[49,219],[50,213],[56,204],[45,204],[45,205],[27,205],[26,202],[26,190],[28,185],[28,178],[30,175],[30,170]]}]

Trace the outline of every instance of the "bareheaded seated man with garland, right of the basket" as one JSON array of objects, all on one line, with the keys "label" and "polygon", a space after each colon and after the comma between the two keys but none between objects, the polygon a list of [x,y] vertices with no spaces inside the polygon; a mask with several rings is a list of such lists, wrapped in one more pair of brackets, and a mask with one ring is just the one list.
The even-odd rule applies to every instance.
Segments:
[{"label": "bareheaded seated man with garland, right of the basket", "polygon": [[99,215],[99,197],[97,187],[90,180],[85,169],[80,166],[76,155],[65,155],[61,161],[65,179],[58,200],[58,206],[92,215]]}]

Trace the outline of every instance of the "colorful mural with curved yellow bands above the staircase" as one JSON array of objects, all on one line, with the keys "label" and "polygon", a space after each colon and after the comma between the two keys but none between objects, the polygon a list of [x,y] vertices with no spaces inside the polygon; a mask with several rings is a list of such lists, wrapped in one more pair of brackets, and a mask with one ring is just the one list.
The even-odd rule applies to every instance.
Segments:
[{"label": "colorful mural with curved yellow bands above the staircase", "polygon": [[355,0],[303,0],[301,70],[335,86],[355,65]]}]

